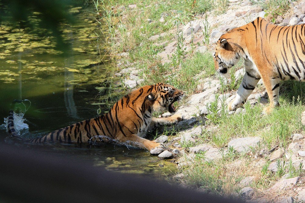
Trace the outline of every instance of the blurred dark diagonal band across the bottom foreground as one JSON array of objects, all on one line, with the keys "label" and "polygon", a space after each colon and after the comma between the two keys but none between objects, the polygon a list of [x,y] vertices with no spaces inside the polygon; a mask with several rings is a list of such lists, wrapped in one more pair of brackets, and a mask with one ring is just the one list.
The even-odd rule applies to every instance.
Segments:
[{"label": "blurred dark diagonal band across the bottom foreground", "polygon": [[0,144],[0,202],[242,202]]}]

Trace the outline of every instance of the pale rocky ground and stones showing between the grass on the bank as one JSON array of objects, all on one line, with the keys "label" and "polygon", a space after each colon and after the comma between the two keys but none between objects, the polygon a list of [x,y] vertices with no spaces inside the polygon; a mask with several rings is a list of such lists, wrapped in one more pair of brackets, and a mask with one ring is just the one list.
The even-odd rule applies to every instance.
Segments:
[{"label": "pale rocky ground and stones showing between the grass on the bank", "polygon": [[[136,5],[129,5],[126,9],[136,9]],[[275,20],[280,25],[296,25],[305,23],[305,1],[296,1],[291,3],[291,10],[283,16],[278,16]],[[255,20],[257,17],[264,17],[266,14],[262,8],[253,5],[251,1],[230,0],[229,6],[225,13],[221,15],[212,15],[208,12],[207,20],[211,26],[210,43],[208,45],[198,45],[204,39],[205,17],[196,16],[182,28],[185,50],[190,50],[195,46],[195,52],[213,52],[213,43],[215,43],[221,34],[235,27],[242,26]],[[194,18],[194,19],[195,19]],[[150,20],[150,19],[148,19]],[[160,16],[160,22],[166,23],[163,16]],[[176,30],[170,30],[168,33],[162,33],[149,37],[150,41],[156,41],[156,45],[164,45],[163,52],[157,53],[163,63],[169,62],[170,57],[177,49],[177,37],[170,40],[159,42],[158,39],[169,33],[175,33]],[[140,85],[144,79],[140,77],[141,70],[133,67],[132,63],[120,60],[121,57],[127,57],[128,53],[117,54],[118,67],[120,71],[116,77],[123,77],[123,85],[127,88],[135,88]],[[239,81],[244,74],[244,70],[237,70],[234,79]],[[143,76],[144,77],[144,76]],[[194,76],[198,77],[198,76]],[[236,180],[238,191],[236,195],[244,198],[249,202],[302,202],[305,201],[305,183],[302,173],[299,176],[291,177],[288,173],[283,172],[281,177],[274,178],[269,185],[264,185],[263,189],[255,187],[258,182],[259,173],[266,166],[266,173],[278,174],[279,170],[285,167],[294,167],[303,169],[305,165],[305,139],[303,131],[300,133],[289,134],[289,143],[286,146],[275,145],[271,149],[264,146],[264,141],[260,136],[251,137],[232,137],[231,140],[222,146],[217,146],[210,142],[209,138],[202,137],[203,132],[217,132],[219,126],[208,122],[208,115],[211,113],[210,105],[216,104],[218,109],[228,104],[234,97],[235,91],[226,91],[220,93],[220,88],[224,83],[231,83],[231,79],[221,81],[217,76],[200,78],[197,86],[197,94],[188,95],[183,104],[180,104],[177,114],[182,114],[184,120],[174,127],[167,128],[167,131],[174,132],[171,136],[161,135],[156,139],[164,143],[165,149],[155,149],[151,154],[158,155],[160,158],[172,159],[181,173],[175,175],[175,180],[181,181],[182,185],[188,185],[184,181],[186,175],[185,169],[192,166],[194,162],[217,162],[232,153],[243,154],[250,157],[250,163],[247,167],[252,168],[254,173],[250,176],[243,176],[242,179]],[[234,82],[233,82],[234,83]],[[218,98],[216,94],[219,94]],[[217,98],[217,101],[216,101]],[[248,98],[250,106],[266,105],[268,96],[264,89],[262,81]],[[218,111],[221,114],[223,111]],[[239,108],[236,111],[227,112],[229,115],[243,115],[246,113],[245,108]],[[160,116],[170,116],[164,113]],[[305,125],[305,112],[302,115],[302,124]],[[266,165],[266,163],[268,163]],[[301,165],[300,165],[301,163]],[[232,158],[228,169],[238,170],[239,165],[243,165],[243,159]],[[208,192],[206,189],[203,189]]]}]

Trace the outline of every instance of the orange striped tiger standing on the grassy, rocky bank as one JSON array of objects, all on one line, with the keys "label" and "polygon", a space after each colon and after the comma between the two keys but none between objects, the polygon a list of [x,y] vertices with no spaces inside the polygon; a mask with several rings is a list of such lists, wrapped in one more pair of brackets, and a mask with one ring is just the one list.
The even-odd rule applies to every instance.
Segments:
[{"label": "orange striped tiger standing on the grassy, rocky bank", "polygon": [[305,24],[278,26],[258,17],[221,35],[214,52],[217,72],[226,76],[241,58],[246,73],[229,111],[241,107],[262,78],[270,100],[264,112],[271,112],[279,105],[281,80],[305,81]]}]

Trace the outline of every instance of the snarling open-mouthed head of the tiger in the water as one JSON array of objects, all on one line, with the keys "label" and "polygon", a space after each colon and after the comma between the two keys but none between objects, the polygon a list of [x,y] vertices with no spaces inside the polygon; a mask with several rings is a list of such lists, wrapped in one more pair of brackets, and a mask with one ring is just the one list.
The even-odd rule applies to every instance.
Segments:
[{"label": "snarling open-mouthed head of the tiger in the water", "polygon": [[174,102],[179,102],[183,96],[183,91],[168,84],[158,83],[147,96],[147,99],[152,102],[154,111],[163,112],[167,110],[170,113],[175,113]]}]

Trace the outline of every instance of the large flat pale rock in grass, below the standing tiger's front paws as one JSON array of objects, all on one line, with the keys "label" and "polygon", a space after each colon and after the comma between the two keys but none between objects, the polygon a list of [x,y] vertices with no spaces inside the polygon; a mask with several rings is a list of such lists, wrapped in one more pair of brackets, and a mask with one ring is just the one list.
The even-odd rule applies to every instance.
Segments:
[{"label": "large flat pale rock in grass, below the standing tiger's front paws", "polygon": [[239,153],[247,152],[250,147],[257,147],[260,141],[260,137],[239,137],[231,140],[228,147],[233,147]]}]

